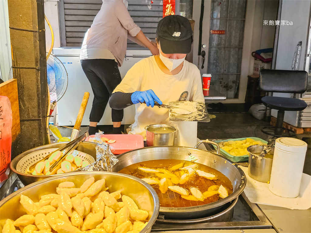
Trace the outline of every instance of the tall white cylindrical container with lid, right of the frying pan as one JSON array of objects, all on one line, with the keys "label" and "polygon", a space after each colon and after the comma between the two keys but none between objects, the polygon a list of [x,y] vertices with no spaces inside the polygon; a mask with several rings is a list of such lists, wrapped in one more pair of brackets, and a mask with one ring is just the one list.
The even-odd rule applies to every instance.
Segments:
[{"label": "tall white cylindrical container with lid, right of the frying pan", "polygon": [[275,142],[270,191],[280,197],[299,195],[307,144],[296,138],[278,138]]}]

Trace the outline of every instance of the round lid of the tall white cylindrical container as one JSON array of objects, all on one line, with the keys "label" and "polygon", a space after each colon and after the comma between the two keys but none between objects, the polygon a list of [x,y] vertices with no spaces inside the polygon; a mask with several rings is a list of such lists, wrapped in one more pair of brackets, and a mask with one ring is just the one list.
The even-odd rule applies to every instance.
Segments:
[{"label": "round lid of the tall white cylindrical container", "polygon": [[307,144],[296,138],[278,138],[275,141],[276,147],[289,152],[303,152],[307,148]]}]

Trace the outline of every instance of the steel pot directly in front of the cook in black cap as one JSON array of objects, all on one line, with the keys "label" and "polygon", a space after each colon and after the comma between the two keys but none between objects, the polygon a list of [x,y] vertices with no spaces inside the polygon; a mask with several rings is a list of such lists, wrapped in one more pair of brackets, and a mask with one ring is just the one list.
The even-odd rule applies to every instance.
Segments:
[{"label": "steel pot directly in front of the cook in black cap", "polygon": [[[156,133],[153,132],[154,129],[165,128],[168,130],[173,130],[168,133]],[[174,126],[164,125],[164,124],[156,124],[149,125],[145,127],[146,130],[146,143],[147,146],[174,146],[175,142],[175,134],[177,128]]]}]

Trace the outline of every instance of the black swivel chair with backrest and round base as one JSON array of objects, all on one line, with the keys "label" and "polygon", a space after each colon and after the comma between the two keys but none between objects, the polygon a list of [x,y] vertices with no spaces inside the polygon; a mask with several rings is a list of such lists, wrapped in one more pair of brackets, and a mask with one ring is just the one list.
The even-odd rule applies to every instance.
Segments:
[{"label": "black swivel chair with backrest and round base", "polygon": [[[302,94],[307,89],[308,73],[306,71],[285,71],[263,69],[259,74],[260,89],[266,92],[293,93],[294,98],[265,96],[262,103],[272,109],[278,110],[276,126],[264,127],[262,132],[274,137],[293,137],[296,133],[293,130],[283,128],[285,111],[302,111],[307,107],[307,103],[301,99],[296,99],[296,94]],[[288,135],[282,132],[287,131]]]}]

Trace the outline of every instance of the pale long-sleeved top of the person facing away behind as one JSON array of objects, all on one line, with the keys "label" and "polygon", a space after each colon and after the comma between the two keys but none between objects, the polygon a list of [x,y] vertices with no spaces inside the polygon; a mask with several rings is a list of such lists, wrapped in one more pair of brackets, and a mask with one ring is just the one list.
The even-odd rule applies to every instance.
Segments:
[{"label": "pale long-sleeved top of the person facing away behind", "polygon": [[135,37],[140,30],[123,0],[103,0],[100,11],[84,37],[81,51],[89,48],[108,49],[121,66],[126,53],[128,33]]}]

